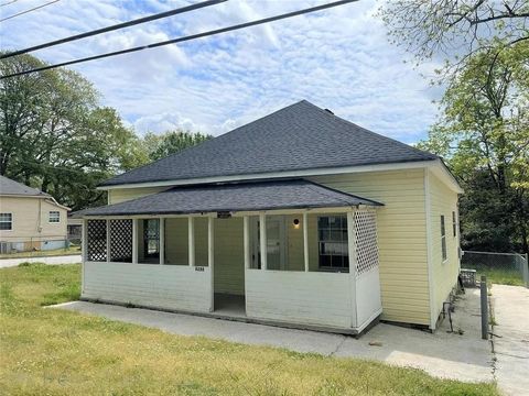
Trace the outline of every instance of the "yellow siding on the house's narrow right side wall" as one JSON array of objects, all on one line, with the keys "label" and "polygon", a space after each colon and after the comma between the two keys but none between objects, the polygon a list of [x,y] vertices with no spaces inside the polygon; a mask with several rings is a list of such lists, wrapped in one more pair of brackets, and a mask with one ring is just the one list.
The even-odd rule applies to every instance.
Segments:
[{"label": "yellow siding on the house's narrow right side wall", "polygon": [[[432,264],[434,282],[434,318],[443,309],[443,302],[457,283],[460,272],[458,238],[452,231],[452,212],[457,213],[457,194],[452,191],[435,175],[429,175],[430,217],[432,238]],[[444,215],[446,230],[446,261],[443,262],[441,250],[441,215]],[[458,218],[458,216],[456,217]]]}]

